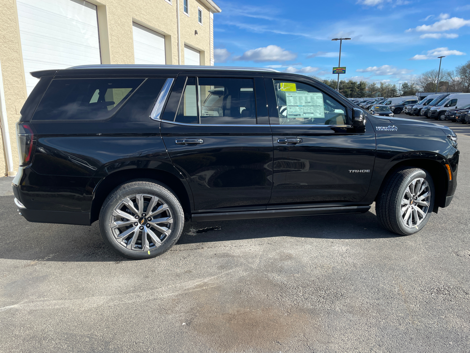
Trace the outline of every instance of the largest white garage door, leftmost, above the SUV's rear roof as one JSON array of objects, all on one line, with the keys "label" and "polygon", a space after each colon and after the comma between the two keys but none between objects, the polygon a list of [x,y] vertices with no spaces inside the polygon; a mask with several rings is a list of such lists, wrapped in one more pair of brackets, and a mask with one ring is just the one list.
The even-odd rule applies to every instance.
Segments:
[{"label": "largest white garage door, leftmost, above the SUV's rear roof", "polygon": [[16,0],[28,95],[29,73],[101,64],[96,6],[83,0]]}]

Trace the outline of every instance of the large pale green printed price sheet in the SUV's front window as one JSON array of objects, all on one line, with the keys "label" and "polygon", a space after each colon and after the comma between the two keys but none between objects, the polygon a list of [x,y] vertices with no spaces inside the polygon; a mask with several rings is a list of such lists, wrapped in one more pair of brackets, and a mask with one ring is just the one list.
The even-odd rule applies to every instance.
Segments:
[{"label": "large pale green printed price sheet in the SUV's front window", "polygon": [[315,92],[289,92],[286,93],[288,117],[324,118],[323,94]]}]

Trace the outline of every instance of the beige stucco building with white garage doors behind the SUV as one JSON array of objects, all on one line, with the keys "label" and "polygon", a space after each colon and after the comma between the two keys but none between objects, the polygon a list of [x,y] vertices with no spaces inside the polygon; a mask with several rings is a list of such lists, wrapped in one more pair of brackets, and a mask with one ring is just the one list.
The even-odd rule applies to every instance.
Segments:
[{"label": "beige stucco building with white garage doors behind the SUV", "polygon": [[15,124],[37,80],[80,64],[213,65],[212,0],[0,0],[0,176],[18,170]]}]

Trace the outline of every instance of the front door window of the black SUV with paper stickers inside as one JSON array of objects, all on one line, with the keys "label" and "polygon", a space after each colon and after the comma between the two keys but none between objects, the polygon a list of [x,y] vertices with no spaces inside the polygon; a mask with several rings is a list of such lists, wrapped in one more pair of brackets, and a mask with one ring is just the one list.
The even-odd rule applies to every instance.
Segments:
[{"label": "front door window of the black SUV with paper stickers inside", "polygon": [[279,123],[346,125],[346,108],[331,96],[302,82],[274,80]]}]

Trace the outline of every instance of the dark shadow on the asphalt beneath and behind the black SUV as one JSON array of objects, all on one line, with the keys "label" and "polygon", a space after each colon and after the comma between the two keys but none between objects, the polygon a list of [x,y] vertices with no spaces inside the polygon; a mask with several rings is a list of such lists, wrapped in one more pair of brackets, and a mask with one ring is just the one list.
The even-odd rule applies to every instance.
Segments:
[{"label": "dark shadow on the asphalt beneath and behind the black SUV", "polygon": [[[40,261],[133,261],[115,254],[104,244],[98,222],[91,226],[31,223],[18,215],[16,209],[13,196],[0,196],[0,213],[3,215],[0,258],[29,260],[25,267],[36,265]],[[196,233],[198,229],[214,226],[220,226],[221,230]],[[375,239],[393,238],[397,235],[382,229],[375,214],[369,211],[356,215],[188,222],[175,246],[282,236]]]}]

